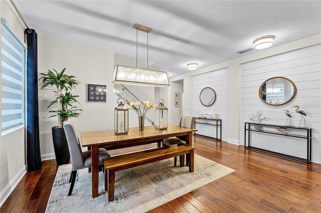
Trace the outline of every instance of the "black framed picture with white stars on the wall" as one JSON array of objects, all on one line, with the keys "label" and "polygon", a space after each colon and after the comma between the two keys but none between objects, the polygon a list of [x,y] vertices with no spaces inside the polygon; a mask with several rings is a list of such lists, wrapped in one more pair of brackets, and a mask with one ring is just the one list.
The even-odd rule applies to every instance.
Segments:
[{"label": "black framed picture with white stars on the wall", "polygon": [[106,102],[106,85],[87,83],[87,102]]}]

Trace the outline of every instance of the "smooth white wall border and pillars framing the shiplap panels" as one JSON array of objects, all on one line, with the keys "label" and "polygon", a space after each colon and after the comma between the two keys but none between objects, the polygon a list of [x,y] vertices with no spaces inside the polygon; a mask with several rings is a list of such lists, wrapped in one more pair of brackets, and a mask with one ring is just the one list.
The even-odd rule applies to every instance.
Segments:
[{"label": "smooth white wall border and pillars framing the shiplap panels", "polygon": [[[285,52],[301,49],[311,45],[319,44],[321,41],[321,34],[316,34],[297,41],[286,43],[283,45],[270,47],[264,50],[255,50],[255,52],[240,56],[238,58],[224,61],[222,63],[214,64],[208,67],[200,68],[185,73],[184,75],[176,76],[170,81],[184,79],[184,114],[190,114],[189,107],[191,106],[191,77],[194,75],[211,72],[228,67],[229,69],[229,117],[228,117],[228,138],[230,143],[241,144],[240,141],[240,64],[253,60],[258,60],[270,56],[279,55]],[[172,83],[172,82],[171,82]],[[313,158],[312,158],[313,160]]]}]

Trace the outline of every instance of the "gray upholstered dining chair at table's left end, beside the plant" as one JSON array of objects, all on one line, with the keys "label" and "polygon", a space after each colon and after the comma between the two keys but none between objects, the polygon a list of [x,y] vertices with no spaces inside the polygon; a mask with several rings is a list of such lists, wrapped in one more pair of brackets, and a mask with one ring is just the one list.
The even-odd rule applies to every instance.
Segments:
[{"label": "gray upholstered dining chair at table's left end, beside the plant", "polygon": [[[64,122],[64,131],[67,138],[70,158],[71,158],[71,176],[69,182],[71,182],[68,196],[71,195],[74,188],[77,170],[82,168],[91,167],[91,150],[82,152],[79,139],[77,136],[76,128],[70,121]],[[110,157],[108,151],[104,148],[99,148],[99,165],[103,165],[102,159]],[[103,169],[104,170],[104,169]]]}]

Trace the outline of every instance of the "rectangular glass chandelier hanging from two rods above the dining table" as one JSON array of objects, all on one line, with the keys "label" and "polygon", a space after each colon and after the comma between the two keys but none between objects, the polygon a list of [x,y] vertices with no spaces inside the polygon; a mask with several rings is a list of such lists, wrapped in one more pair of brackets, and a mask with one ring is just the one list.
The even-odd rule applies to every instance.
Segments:
[{"label": "rectangular glass chandelier hanging from two rods above the dining table", "polygon": [[[117,65],[114,70],[112,83],[121,83],[129,85],[142,85],[142,86],[169,86],[170,81],[166,71],[156,71],[148,69],[148,33],[151,28],[134,24],[133,28],[136,29],[136,67]],[[137,32],[138,30],[147,33],[147,69],[137,67]]]}]

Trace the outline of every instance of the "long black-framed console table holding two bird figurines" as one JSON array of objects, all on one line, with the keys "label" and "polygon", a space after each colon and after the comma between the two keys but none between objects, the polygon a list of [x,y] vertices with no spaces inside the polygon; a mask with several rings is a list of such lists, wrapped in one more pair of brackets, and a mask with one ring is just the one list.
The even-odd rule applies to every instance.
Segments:
[{"label": "long black-framed console table holding two bird figurines", "polygon": [[[268,129],[255,129],[254,128],[255,125],[259,125],[261,127],[267,127]],[[282,134],[276,130],[277,127],[284,127],[287,129],[296,129],[298,133],[300,133],[299,131],[305,132],[305,133],[304,134],[292,134],[292,133]],[[272,130],[272,129],[274,129],[274,130]],[[306,162],[306,163],[311,162],[312,129],[309,127],[301,128],[301,127],[296,127],[296,126],[284,126],[284,125],[276,125],[276,124],[245,122],[244,131],[245,131],[244,132],[244,135],[245,135],[244,136],[244,146],[245,146],[245,148],[249,148],[249,149],[264,152],[264,153],[273,154],[273,155],[284,157],[287,159],[296,160],[299,162]],[[258,132],[258,133],[262,133],[262,134],[277,134],[279,136],[297,137],[297,138],[306,139],[306,159],[251,146],[251,132]]]}]

